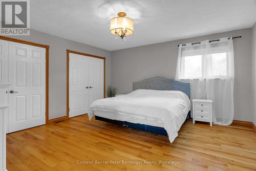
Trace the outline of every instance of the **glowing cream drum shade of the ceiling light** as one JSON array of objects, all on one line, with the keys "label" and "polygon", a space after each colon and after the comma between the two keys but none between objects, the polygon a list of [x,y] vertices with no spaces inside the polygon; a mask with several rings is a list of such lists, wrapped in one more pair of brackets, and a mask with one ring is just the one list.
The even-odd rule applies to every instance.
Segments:
[{"label": "glowing cream drum shade of the ceiling light", "polygon": [[125,36],[133,34],[133,20],[128,17],[115,17],[110,20],[110,32],[117,35],[126,30]]}]

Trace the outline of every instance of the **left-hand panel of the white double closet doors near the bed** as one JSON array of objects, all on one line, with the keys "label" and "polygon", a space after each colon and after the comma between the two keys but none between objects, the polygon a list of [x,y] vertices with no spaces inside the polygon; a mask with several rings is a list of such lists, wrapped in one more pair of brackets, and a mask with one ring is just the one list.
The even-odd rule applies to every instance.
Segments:
[{"label": "left-hand panel of the white double closet doors near the bed", "polygon": [[69,54],[69,117],[88,113],[89,59],[78,54]]}]

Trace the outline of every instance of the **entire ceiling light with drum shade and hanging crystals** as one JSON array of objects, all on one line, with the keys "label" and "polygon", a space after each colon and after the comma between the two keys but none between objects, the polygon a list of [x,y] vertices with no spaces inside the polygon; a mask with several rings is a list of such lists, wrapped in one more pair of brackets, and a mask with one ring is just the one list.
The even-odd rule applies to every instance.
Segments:
[{"label": "entire ceiling light with drum shade and hanging crystals", "polygon": [[117,17],[110,20],[110,32],[115,35],[116,38],[119,36],[123,40],[126,40],[126,36],[133,34],[133,20],[126,17],[125,12],[119,12]]}]

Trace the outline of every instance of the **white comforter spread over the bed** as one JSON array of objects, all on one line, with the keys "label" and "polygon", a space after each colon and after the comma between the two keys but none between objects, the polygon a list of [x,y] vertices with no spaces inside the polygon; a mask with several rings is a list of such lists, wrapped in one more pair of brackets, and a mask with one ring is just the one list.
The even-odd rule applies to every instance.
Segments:
[{"label": "white comforter spread over the bed", "polygon": [[94,116],[95,110],[163,123],[172,143],[190,110],[190,100],[180,91],[136,90],[126,95],[94,101],[89,109],[89,119]]}]

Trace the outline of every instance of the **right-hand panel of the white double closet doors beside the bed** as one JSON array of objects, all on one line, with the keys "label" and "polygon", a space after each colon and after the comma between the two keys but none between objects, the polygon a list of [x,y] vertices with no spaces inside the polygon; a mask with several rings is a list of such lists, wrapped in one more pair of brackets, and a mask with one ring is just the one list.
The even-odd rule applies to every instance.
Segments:
[{"label": "right-hand panel of the white double closet doors beside the bed", "polygon": [[89,105],[91,105],[95,100],[104,98],[104,61],[92,57],[89,63]]}]

